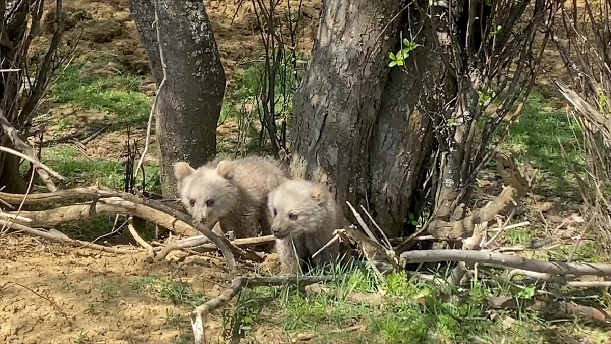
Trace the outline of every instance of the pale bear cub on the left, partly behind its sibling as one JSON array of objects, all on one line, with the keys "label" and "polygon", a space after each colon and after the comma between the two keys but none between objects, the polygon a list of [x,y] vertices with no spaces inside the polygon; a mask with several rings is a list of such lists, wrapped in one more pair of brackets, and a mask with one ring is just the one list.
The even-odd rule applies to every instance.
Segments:
[{"label": "pale bear cub on the left, partly behind its sibling", "polygon": [[180,199],[189,214],[212,229],[219,222],[236,237],[271,234],[266,217],[267,177],[284,178],[279,162],[267,157],[214,159],[194,169],[187,162],[174,164]]}]

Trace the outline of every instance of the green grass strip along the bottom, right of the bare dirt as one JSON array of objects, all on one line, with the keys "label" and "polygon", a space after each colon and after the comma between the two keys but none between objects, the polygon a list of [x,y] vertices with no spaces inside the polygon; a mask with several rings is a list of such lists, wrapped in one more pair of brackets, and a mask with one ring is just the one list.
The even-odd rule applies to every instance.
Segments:
[{"label": "green grass strip along the bottom, right of the bare dirt", "polygon": [[[560,343],[561,337],[537,332],[552,329],[534,312],[501,312],[491,320],[483,307],[486,296],[517,296],[508,286],[491,288],[472,282],[462,301],[440,294],[439,288],[410,279],[405,272],[378,282],[362,267],[353,267],[324,285],[329,292],[306,294],[296,288],[260,287],[241,293],[235,308],[222,318],[226,334],[248,334],[257,326],[277,327],[290,336],[314,333],[312,343]],[[349,292],[384,293],[382,307],[349,301]],[[524,294],[522,294],[524,295]],[[505,321],[508,316],[513,320]],[[360,325],[359,331],[338,330]],[[566,323],[569,336],[579,323]],[[552,331],[557,332],[557,331]],[[609,335],[600,335],[601,343]]]}]

